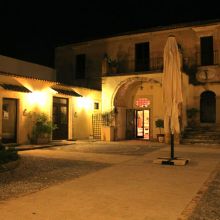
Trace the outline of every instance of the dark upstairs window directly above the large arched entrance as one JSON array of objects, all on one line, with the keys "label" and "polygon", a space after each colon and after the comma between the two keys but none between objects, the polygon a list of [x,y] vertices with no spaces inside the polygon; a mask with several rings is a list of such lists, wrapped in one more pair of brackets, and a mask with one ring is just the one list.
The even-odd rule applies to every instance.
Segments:
[{"label": "dark upstairs window directly above the large arched entrance", "polygon": [[150,69],[149,42],[135,45],[135,71],[148,71]]}]

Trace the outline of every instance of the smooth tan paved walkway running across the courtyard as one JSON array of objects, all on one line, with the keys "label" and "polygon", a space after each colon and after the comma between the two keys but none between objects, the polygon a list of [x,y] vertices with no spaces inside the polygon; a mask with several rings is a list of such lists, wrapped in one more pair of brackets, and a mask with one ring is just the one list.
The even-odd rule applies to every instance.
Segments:
[{"label": "smooth tan paved walkway running across the courtyard", "polygon": [[186,213],[186,207],[190,209],[190,202],[216,168],[220,149],[176,146],[176,156],[190,159],[186,166],[152,163],[157,157],[169,155],[168,146],[143,156],[74,154],[75,158],[84,155],[93,161],[107,157],[112,163],[115,156],[117,163],[73,181],[2,202],[0,219],[178,219],[184,217],[181,213]]}]

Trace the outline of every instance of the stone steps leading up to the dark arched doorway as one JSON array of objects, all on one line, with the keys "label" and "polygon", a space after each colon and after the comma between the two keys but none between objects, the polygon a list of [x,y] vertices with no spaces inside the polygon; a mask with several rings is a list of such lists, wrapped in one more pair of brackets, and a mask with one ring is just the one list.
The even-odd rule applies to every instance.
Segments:
[{"label": "stone steps leading up to the dark arched doorway", "polygon": [[219,144],[220,126],[200,126],[186,128],[182,135],[182,144]]}]

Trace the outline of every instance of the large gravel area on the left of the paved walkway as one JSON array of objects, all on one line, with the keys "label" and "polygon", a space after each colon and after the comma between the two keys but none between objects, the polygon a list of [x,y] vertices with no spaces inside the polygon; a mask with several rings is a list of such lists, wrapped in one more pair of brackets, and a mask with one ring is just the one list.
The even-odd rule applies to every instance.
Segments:
[{"label": "large gravel area on the left of the paved walkway", "polygon": [[23,196],[110,166],[90,161],[74,161],[22,156],[19,166],[0,173],[0,201]]}]

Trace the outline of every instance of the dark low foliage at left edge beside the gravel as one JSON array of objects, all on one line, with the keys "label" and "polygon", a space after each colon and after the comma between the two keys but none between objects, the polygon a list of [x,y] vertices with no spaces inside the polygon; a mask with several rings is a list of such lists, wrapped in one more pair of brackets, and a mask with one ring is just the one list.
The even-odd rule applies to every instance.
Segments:
[{"label": "dark low foliage at left edge beside the gravel", "polygon": [[18,158],[19,156],[16,150],[6,149],[3,145],[0,145],[0,164],[15,161]]}]

